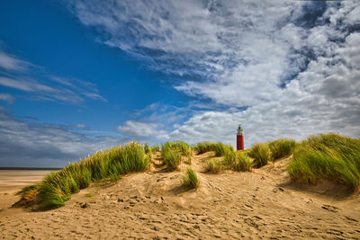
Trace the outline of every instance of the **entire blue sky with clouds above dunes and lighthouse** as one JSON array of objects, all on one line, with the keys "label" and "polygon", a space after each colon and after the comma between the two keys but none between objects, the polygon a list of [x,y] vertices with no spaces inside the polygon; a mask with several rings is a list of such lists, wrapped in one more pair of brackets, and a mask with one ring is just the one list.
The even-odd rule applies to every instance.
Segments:
[{"label": "entire blue sky with clouds above dunes and lighthouse", "polygon": [[0,167],[136,140],[360,138],[356,1],[3,0]]}]

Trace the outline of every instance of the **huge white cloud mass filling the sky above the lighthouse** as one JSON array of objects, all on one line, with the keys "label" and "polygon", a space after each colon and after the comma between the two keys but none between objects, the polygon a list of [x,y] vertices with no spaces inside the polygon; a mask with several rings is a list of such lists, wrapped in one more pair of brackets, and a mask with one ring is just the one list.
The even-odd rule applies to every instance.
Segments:
[{"label": "huge white cloud mass filling the sky above the lighthouse", "polygon": [[[177,76],[175,89],[198,100],[190,105],[204,106],[206,99],[221,106],[172,124],[170,138],[234,143],[238,122],[247,147],[322,131],[360,136],[356,1],[72,3],[80,22],[106,33],[104,44]],[[324,13],[319,4],[326,4]],[[302,13],[303,5],[318,15]],[[246,111],[236,110],[244,106]],[[141,129],[131,122],[121,126],[149,135],[136,127]]]}]

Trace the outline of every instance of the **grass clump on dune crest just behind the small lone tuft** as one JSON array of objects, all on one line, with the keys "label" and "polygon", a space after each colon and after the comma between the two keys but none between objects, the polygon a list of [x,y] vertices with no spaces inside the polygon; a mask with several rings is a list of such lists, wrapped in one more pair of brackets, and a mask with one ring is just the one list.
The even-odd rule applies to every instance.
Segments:
[{"label": "grass clump on dune crest just behind the small lone tuft", "polygon": [[169,169],[175,170],[181,164],[182,157],[191,161],[192,149],[184,142],[166,142],[161,146],[161,155]]}]

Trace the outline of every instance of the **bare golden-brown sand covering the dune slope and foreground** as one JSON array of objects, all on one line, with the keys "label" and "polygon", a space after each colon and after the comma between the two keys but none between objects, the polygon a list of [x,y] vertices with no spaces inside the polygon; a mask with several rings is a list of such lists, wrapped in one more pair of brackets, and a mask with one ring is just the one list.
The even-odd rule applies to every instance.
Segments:
[{"label": "bare golden-brown sand covering the dune slope and foreground", "polygon": [[209,153],[193,156],[201,183],[186,191],[182,173],[166,172],[159,158],[154,156],[147,173],[93,184],[74,194],[65,207],[49,211],[10,208],[21,186],[3,186],[0,237],[360,238],[360,196],[324,184],[291,183],[284,170],[289,159],[252,173],[212,174],[204,173]]}]

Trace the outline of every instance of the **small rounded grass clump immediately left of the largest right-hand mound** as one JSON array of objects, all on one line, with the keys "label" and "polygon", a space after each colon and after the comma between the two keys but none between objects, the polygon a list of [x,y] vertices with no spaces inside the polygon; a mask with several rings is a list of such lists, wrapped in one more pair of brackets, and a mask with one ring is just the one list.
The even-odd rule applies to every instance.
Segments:
[{"label": "small rounded grass clump immediately left of the largest right-hand mound", "polygon": [[271,160],[275,161],[282,157],[291,156],[295,150],[295,144],[295,140],[286,138],[269,142],[268,145],[271,152]]}]

